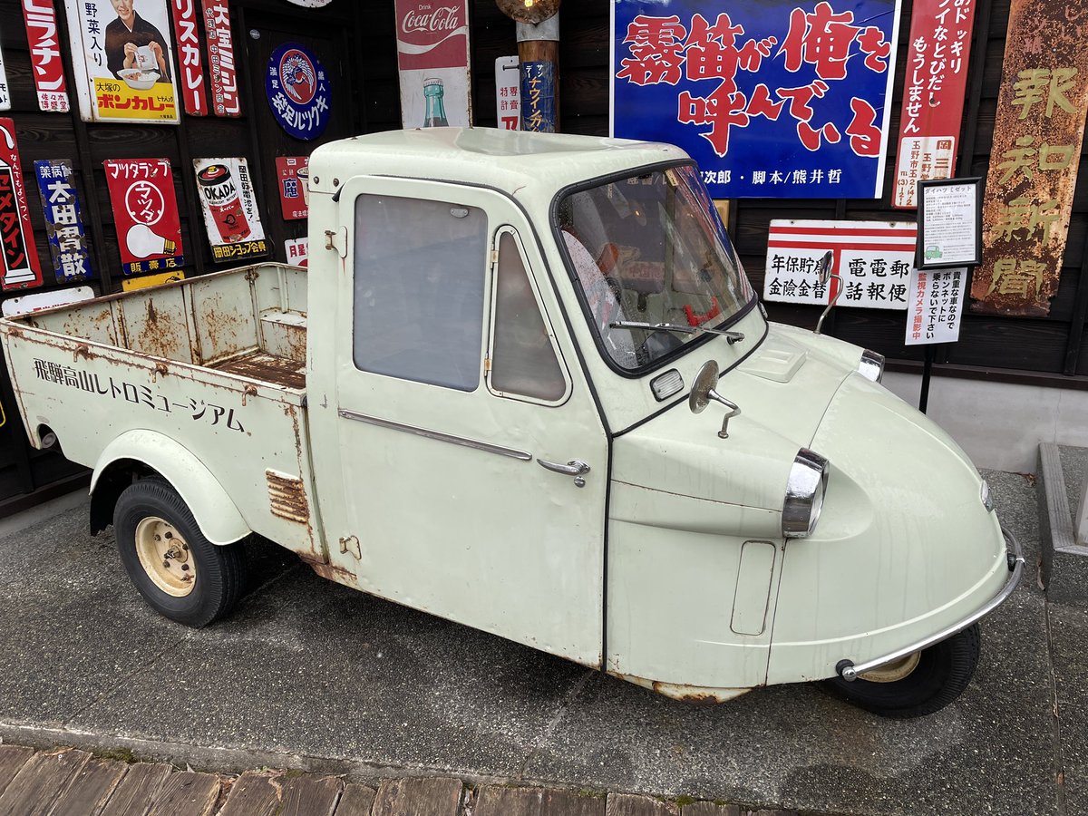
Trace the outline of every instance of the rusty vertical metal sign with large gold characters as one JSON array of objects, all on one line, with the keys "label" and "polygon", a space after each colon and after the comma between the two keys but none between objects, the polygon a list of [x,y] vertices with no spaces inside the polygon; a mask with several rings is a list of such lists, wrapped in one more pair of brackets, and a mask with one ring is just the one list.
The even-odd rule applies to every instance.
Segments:
[{"label": "rusty vertical metal sign with large gold characters", "polygon": [[972,311],[1050,313],[1088,110],[1086,37],[1088,1],[1012,0]]}]

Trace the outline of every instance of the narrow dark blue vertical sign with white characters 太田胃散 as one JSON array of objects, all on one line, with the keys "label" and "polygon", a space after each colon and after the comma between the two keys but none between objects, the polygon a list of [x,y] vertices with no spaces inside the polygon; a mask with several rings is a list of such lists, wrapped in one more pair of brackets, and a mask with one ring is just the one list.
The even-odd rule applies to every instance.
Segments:
[{"label": "narrow dark blue vertical sign with white characters \u592a\u7530\u80c3\u6563", "polygon": [[49,252],[57,282],[70,283],[90,277],[94,272],[72,162],[69,159],[40,159],[34,162],[34,174],[41,195],[41,211],[46,217],[46,234],[49,236]]}]

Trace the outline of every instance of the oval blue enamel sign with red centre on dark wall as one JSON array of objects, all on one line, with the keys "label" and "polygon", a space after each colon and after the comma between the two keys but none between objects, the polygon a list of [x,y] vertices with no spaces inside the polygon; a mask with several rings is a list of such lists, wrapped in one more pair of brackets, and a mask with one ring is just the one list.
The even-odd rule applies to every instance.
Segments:
[{"label": "oval blue enamel sign with red centre on dark wall", "polygon": [[264,94],[272,116],[296,139],[316,139],[329,125],[329,79],[325,66],[297,42],[285,42],[269,58]]}]

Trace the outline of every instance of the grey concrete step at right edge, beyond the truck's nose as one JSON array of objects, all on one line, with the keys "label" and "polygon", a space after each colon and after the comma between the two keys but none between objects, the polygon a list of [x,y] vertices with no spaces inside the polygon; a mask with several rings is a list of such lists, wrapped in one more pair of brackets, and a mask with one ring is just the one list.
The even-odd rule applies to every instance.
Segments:
[{"label": "grey concrete step at right edge, beyond the truck's nose", "polygon": [[1088,546],[1076,542],[1074,516],[1088,478],[1088,448],[1042,443],[1037,473],[1042,585],[1054,603],[1088,605]]}]

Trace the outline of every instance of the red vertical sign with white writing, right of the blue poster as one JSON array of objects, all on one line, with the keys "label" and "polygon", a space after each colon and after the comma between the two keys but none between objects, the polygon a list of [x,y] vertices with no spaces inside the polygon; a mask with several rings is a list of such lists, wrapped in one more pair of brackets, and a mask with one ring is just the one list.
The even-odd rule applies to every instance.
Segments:
[{"label": "red vertical sign with white writing, right of the blue poster", "polygon": [[915,0],[892,207],[917,207],[918,182],[955,172],[974,23],[975,0]]}]

